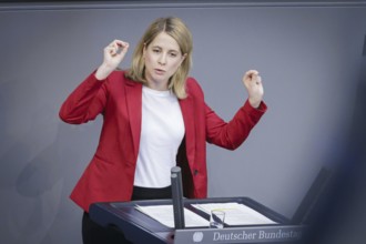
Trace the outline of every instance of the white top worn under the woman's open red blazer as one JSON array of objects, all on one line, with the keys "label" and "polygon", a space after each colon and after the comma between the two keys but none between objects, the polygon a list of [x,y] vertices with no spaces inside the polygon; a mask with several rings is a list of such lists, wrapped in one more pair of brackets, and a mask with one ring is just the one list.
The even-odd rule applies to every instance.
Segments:
[{"label": "white top worn under the woman's open red blazer", "polygon": [[181,106],[173,92],[142,88],[142,123],[134,185],[166,187],[184,136]]}]

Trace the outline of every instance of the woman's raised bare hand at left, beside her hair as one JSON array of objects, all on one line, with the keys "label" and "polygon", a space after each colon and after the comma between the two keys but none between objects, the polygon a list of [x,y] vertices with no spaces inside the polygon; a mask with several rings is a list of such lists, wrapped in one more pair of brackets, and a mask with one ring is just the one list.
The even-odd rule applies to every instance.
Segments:
[{"label": "woman's raised bare hand at left, beside her hair", "polygon": [[104,80],[112,73],[113,70],[122,62],[125,53],[129,50],[129,43],[114,40],[109,45],[104,48],[103,63],[98,68],[95,72],[95,78],[98,80]]}]

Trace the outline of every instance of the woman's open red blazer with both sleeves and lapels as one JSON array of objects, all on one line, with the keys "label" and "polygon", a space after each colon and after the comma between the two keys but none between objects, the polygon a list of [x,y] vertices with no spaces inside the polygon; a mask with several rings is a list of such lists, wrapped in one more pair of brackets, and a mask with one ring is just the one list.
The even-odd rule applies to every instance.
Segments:
[{"label": "woman's open red blazer with both sleeves and lapels", "polygon": [[[184,195],[206,197],[206,142],[234,150],[266,111],[246,101],[228,123],[211,110],[197,82],[186,80],[187,98],[180,100],[185,136],[177,153]],[[103,115],[99,145],[71,193],[84,211],[94,202],[130,201],[140,145],[142,84],[114,71],[104,81],[90,74],[64,101],[60,118],[80,124]]]}]

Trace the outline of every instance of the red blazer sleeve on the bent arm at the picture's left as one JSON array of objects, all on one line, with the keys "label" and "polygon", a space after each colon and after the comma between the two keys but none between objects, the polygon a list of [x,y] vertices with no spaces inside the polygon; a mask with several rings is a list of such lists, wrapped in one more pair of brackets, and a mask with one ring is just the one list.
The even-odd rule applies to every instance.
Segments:
[{"label": "red blazer sleeve on the bent arm at the picture's left", "polygon": [[106,96],[106,80],[96,80],[93,72],[62,103],[60,119],[70,124],[94,120],[103,112]]}]

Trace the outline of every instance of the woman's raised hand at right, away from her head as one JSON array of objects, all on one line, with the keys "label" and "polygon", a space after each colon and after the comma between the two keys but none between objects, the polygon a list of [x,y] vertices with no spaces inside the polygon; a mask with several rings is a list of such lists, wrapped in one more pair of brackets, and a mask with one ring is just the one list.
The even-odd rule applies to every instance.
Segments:
[{"label": "woman's raised hand at right, away from her head", "polygon": [[248,101],[251,105],[257,109],[261,104],[264,94],[260,72],[256,70],[246,71],[243,77],[243,83],[247,90]]}]

